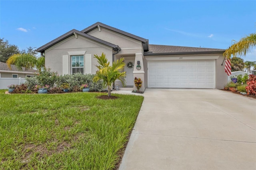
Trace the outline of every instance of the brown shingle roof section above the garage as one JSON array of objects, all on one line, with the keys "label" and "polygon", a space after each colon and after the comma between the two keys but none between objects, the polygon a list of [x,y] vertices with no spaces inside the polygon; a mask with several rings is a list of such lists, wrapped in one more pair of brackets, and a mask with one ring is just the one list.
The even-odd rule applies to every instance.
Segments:
[{"label": "brown shingle roof section above the garage", "polygon": [[149,51],[152,53],[178,53],[178,52],[210,52],[210,51],[225,51],[225,49],[214,48],[198,48],[198,47],[182,47],[173,45],[149,45]]}]

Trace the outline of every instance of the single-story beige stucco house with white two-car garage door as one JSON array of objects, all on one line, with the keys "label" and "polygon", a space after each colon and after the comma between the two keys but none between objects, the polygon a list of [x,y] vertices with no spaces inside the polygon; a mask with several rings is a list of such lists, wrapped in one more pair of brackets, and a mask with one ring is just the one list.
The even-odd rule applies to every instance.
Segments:
[{"label": "single-story beige stucco house with white two-car garage door", "polygon": [[[184,40],[186,41],[186,40]],[[151,45],[147,39],[100,22],[82,31],[71,30],[37,49],[45,56],[45,66],[61,75],[96,73],[94,54],[102,52],[110,63],[124,57],[126,86],[134,87],[134,77],[142,88],[222,89],[227,75],[222,65],[224,49]],[[139,65],[139,66],[138,66]],[[137,69],[138,68],[138,69]],[[121,83],[116,81],[116,84]]]}]

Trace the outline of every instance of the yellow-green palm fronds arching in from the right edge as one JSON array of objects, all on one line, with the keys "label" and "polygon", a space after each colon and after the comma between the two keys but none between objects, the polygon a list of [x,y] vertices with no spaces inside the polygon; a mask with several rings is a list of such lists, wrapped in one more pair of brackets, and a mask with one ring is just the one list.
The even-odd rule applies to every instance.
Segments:
[{"label": "yellow-green palm fronds arching in from the right edge", "polygon": [[[234,41],[234,40],[233,40]],[[250,52],[251,49],[256,46],[256,33],[250,34],[241,38],[239,42],[234,41],[235,43],[231,45],[224,53],[223,56],[227,58],[236,57],[238,55],[245,56],[246,53]]]}]

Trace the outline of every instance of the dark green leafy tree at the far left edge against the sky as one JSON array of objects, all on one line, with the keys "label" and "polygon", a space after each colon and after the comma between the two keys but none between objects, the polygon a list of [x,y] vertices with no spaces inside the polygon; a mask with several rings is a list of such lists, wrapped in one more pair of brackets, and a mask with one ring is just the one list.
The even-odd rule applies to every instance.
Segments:
[{"label": "dark green leafy tree at the far left edge against the sky", "polygon": [[0,61],[6,63],[7,59],[14,55],[20,53],[18,46],[11,45],[4,38],[0,38]]}]

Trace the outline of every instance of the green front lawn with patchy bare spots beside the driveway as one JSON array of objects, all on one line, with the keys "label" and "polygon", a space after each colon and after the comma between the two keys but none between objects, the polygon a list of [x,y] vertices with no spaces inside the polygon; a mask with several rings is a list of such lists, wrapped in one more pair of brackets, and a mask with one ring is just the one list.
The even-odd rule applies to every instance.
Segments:
[{"label": "green front lawn with patchy bare spots beside the driveway", "polygon": [[[114,169],[143,97],[102,93],[4,94],[0,169]],[[106,95],[106,94],[104,94]]]}]

